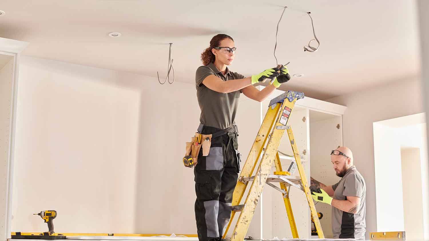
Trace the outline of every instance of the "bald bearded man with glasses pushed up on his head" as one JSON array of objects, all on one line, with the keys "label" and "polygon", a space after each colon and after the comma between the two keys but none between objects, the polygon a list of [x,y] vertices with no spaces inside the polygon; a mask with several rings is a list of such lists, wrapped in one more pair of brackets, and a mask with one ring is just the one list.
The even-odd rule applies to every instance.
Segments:
[{"label": "bald bearded man with glasses pushed up on his head", "polygon": [[337,184],[326,186],[311,178],[311,185],[320,187],[321,191],[312,192],[311,196],[316,202],[332,205],[334,238],[365,240],[365,180],[353,165],[353,153],[347,147],[332,150],[331,162],[341,180]]}]

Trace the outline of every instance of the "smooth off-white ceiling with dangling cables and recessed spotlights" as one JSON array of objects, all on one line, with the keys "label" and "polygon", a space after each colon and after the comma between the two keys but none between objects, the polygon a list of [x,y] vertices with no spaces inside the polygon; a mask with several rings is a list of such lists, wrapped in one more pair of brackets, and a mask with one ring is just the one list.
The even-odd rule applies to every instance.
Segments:
[{"label": "smooth off-white ceiling with dangling cables and recessed spotlights", "polygon": [[[274,67],[285,5],[276,56],[304,77],[281,89],[326,99],[419,75],[412,0],[2,0],[0,37],[30,42],[27,56],[164,78],[172,42],[176,81],[194,83],[200,53],[217,33],[235,40],[231,70],[250,76]],[[314,53],[303,51],[313,39],[306,11],[320,40]]]}]

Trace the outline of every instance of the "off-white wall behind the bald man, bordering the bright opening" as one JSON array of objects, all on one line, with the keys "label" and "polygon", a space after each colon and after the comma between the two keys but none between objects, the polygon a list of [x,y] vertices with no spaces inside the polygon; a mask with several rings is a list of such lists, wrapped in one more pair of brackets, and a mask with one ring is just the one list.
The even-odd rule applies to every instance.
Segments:
[{"label": "off-white wall behind the bald man, bordering the bright opening", "polygon": [[[375,203],[374,140],[372,123],[423,112],[420,81],[405,79],[328,100],[347,106],[343,115],[343,142],[353,151],[355,165],[366,181],[366,238],[378,231]],[[383,230],[379,230],[383,231]]]}]

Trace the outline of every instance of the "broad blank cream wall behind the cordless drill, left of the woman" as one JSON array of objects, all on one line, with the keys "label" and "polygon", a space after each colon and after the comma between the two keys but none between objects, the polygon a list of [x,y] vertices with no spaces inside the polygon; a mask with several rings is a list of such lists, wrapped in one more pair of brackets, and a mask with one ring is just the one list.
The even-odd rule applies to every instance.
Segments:
[{"label": "broad blank cream wall behind the cordless drill, left of the woman", "polygon": [[[196,233],[195,87],[22,57],[12,231]],[[49,195],[45,195],[49,193]]]}]

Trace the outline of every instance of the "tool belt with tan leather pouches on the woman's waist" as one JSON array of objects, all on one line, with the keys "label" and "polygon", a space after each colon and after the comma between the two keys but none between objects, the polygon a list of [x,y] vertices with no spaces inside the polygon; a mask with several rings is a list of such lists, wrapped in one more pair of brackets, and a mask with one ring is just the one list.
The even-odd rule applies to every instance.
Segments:
[{"label": "tool belt with tan leather pouches on the woman's waist", "polygon": [[238,136],[237,125],[230,126],[224,130],[215,132],[213,134],[201,134],[204,125],[199,124],[195,136],[191,138],[190,142],[186,143],[186,153],[183,158],[185,167],[195,167],[198,163],[198,154],[202,148],[202,156],[208,156],[211,146],[211,138],[220,137],[227,133],[235,133]]}]

